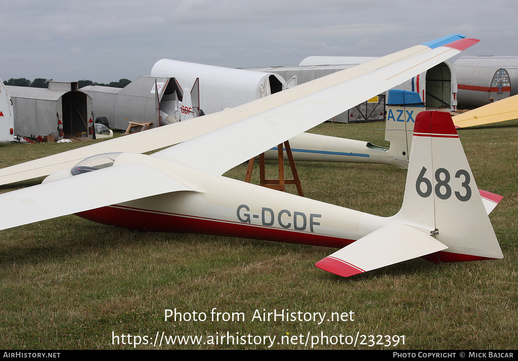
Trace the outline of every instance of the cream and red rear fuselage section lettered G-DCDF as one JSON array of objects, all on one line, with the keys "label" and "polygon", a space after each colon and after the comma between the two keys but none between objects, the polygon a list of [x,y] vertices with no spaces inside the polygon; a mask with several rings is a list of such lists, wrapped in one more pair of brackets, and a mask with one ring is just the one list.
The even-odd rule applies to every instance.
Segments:
[{"label": "cream and red rear fuselage section lettered G-DCDF", "polygon": [[156,232],[197,233],[342,248],[387,219],[217,177],[196,192],[172,192],[77,215]]}]

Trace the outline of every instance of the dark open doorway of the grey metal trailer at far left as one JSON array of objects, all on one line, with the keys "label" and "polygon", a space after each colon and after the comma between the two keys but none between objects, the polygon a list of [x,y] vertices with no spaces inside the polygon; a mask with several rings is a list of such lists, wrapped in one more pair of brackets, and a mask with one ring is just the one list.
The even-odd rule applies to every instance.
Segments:
[{"label": "dark open doorway of the grey metal trailer at far left", "polygon": [[[67,92],[61,96],[61,103],[61,121],[65,135],[88,136],[87,94],[74,91]],[[93,125],[93,123],[90,125]]]}]

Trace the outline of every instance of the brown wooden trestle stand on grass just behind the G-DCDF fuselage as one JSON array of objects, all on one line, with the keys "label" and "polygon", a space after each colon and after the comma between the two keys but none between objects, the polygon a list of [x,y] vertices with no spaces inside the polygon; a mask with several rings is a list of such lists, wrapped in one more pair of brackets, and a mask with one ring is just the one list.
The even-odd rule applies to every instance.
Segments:
[{"label": "brown wooden trestle stand on grass just behind the G-DCDF fuselage", "polygon": [[[261,155],[259,156],[260,185],[284,192],[285,184],[295,184],[297,187],[298,195],[304,197],[304,193],[302,192],[302,186],[300,185],[300,179],[298,178],[297,167],[295,166],[295,161],[293,160],[290,142],[287,140],[284,142],[284,149],[286,150],[286,155],[288,157],[288,161],[290,162],[293,179],[284,178],[284,151],[282,143],[277,146],[277,149],[279,154],[279,179],[266,179],[264,170],[264,153],[261,153]],[[250,179],[252,178],[252,170],[254,168],[254,162],[255,158],[252,158],[248,161],[247,176],[244,179],[245,182],[250,183]]]}]

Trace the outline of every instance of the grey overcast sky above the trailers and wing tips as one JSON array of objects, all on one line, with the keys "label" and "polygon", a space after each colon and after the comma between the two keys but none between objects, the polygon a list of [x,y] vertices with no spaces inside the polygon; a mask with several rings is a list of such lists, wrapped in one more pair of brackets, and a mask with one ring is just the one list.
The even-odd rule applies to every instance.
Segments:
[{"label": "grey overcast sky above the trailers and wing tips", "polygon": [[382,56],[451,33],[518,55],[516,0],[0,0],[0,77],[109,83],[160,59],[259,67]]}]

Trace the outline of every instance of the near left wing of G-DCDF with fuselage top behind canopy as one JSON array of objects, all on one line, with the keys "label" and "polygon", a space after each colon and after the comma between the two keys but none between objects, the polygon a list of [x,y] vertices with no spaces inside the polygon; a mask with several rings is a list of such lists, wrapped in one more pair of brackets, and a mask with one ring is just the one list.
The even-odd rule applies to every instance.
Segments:
[{"label": "near left wing of G-DCDF with fuselage top behind canopy", "polygon": [[[97,157],[96,157],[97,158]],[[81,167],[73,167],[78,170]],[[84,168],[84,167],[83,167]],[[86,172],[71,175],[69,170],[60,170],[49,176],[42,184],[0,194],[2,218],[0,229],[96,209],[128,200],[154,195],[196,191],[215,178],[190,167],[161,160],[143,154],[120,153],[112,166],[97,169],[85,167]],[[90,171],[88,171],[90,170]],[[110,192],[96,194],[96,184],[117,180]],[[74,190],[90,190],[89,196],[77,201],[57,201],[56,195]],[[102,187],[101,187],[102,189]]]}]

